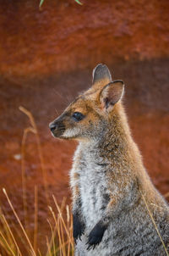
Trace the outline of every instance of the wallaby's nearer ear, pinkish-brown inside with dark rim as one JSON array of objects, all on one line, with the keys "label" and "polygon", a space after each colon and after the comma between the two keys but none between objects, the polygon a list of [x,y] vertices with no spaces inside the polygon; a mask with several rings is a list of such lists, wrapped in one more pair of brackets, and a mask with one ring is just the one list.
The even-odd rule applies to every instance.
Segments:
[{"label": "wallaby's nearer ear, pinkish-brown inside with dark rim", "polygon": [[121,80],[112,81],[103,87],[100,94],[101,107],[110,112],[122,97],[124,91],[124,83]]}]

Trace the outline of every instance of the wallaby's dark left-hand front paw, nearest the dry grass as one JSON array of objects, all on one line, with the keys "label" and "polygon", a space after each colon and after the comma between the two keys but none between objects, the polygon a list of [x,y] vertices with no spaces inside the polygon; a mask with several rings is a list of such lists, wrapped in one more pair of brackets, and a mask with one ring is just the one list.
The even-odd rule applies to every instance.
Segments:
[{"label": "wallaby's dark left-hand front paw, nearest the dry grass", "polygon": [[78,214],[73,214],[73,220],[74,220],[74,242],[80,239],[82,234],[84,234],[85,231],[85,224],[83,223],[82,220],[80,220],[80,217]]}]

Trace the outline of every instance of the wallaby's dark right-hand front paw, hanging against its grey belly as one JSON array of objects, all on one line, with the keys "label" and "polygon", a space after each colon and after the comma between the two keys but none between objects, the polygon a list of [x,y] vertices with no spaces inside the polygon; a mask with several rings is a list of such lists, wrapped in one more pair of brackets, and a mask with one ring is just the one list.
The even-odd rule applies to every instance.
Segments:
[{"label": "wallaby's dark right-hand front paw, hanging against its grey belly", "polygon": [[94,226],[92,231],[90,231],[88,242],[86,243],[88,245],[87,250],[90,250],[90,248],[95,249],[95,246],[101,242],[105,231],[106,231],[106,227],[104,225],[101,225],[100,222],[98,222]]}]

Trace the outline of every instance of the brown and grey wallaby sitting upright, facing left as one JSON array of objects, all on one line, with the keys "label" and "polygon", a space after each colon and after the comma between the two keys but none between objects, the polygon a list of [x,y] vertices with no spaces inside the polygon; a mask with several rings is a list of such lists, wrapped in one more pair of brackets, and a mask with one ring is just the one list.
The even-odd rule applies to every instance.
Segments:
[{"label": "brown and grey wallaby sitting upright, facing left", "polygon": [[169,207],[150,181],[123,109],[123,81],[104,64],[50,124],[76,139],[70,173],[76,256],[169,255]]}]

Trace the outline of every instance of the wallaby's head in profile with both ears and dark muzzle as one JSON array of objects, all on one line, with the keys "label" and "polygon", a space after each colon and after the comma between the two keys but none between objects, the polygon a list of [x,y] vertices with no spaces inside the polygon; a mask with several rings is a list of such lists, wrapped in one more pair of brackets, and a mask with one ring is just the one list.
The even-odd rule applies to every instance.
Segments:
[{"label": "wallaby's head in profile with both ears and dark muzzle", "polygon": [[95,139],[106,131],[116,104],[123,97],[123,81],[112,81],[106,65],[93,70],[93,82],[88,91],[70,103],[63,114],[49,127],[52,135],[63,139]]}]

